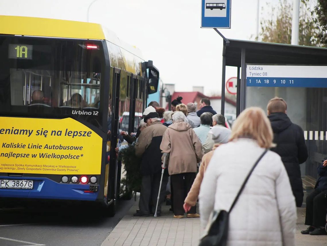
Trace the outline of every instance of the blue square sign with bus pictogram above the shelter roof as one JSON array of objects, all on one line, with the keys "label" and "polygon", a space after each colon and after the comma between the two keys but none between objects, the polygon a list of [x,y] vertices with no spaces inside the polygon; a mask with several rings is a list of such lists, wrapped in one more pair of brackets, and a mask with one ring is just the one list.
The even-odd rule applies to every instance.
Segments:
[{"label": "blue square sign with bus pictogram above the shelter roof", "polygon": [[201,28],[231,28],[232,0],[202,0]]}]

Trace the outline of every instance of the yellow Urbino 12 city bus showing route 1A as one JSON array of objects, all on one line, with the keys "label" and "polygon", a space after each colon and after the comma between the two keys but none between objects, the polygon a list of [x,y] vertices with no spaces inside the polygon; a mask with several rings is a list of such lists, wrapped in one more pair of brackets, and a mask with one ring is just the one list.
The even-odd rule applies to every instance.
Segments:
[{"label": "yellow Urbino 12 city bus showing route 1A", "polygon": [[119,118],[128,112],[134,131],[159,71],[99,24],[0,22],[0,197],[94,201],[114,214]]}]

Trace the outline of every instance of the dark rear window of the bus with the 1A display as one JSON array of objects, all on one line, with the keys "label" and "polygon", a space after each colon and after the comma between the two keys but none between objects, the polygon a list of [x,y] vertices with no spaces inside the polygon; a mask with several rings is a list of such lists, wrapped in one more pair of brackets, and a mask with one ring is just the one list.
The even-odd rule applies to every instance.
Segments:
[{"label": "dark rear window of the bus with the 1A display", "polygon": [[0,35],[0,56],[0,112],[99,108],[101,41]]}]

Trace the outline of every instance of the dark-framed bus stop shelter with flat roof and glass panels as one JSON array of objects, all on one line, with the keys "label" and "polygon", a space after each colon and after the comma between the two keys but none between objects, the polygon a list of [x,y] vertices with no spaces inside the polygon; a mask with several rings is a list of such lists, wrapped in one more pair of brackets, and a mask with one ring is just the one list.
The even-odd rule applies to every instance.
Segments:
[{"label": "dark-framed bus stop shelter with flat roof and glass panels", "polygon": [[[295,84],[291,85],[287,85],[288,82],[284,85],[272,85],[270,79],[270,84],[267,86],[263,84],[262,79],[261,84],[253,86],[252,82],[249,86],[247,67],[250,65],[274,65],[267,67],[272,67],[275,74],[286,71],[285,73],[288,74],[286,77],[289,77],[290,73],[293,77],[301,77],[302,75],[297,75],[303,73],[303,76],[306,76],[306,73],[310,76],[308,75],[308,78],[302,79],[302,81],[295,78]],[[317,177],[317,166],[321,160],[327,158],[326,65],[326,48],[256,41],[223,41],[221,113],[224,113],[226,66],[237,67],[237,115],[251,106],[261,107],[266,111],[267,103],[271,98],[275,96],[284,98],[287,102],[287,115],[293,123],[300,125],[304,130],[309,158],[305,164],[301,165],[301,172],[302,176],[306,177],[304,179],[308,180]],[[291,67],[292,70],[287,71],[287,68]],[[315,77],[318,74],[320,74],[320,78],[317,79]],[[318,83],[317,80],[320,82]],[[289,81],[291,83],[293,80]],[[296,84],[297,81],[300,82]],[[282,79],[278,83],[285,83],[285,80]]]}]

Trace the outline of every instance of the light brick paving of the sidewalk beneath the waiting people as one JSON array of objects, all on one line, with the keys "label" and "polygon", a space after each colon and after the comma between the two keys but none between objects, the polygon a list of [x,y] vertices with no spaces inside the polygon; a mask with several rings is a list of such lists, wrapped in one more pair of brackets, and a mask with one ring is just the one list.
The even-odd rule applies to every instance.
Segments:
[{"label": "light brick paving of the sidewalk beneath the waiting people", "polygon": [[[200,219],[174,219],[168,206],[162,216],[133,217],[138,202],[117,224],[101,246],[195,246],[200,238]],[[327,236],[302,235],[305,208],[298,209],[296,246],[327,246]]]}]

